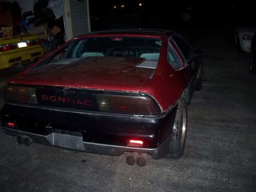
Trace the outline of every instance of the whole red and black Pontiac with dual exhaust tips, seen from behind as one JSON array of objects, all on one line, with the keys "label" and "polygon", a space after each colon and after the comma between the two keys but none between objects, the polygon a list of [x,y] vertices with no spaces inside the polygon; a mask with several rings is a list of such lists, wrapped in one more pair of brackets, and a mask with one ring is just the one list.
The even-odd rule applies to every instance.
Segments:
[{"label": "whole red and black Pontiac with dual exhaust tips, seen from behind", "polygon": [[73,38],[8,81],[4,132],[32,142],[179,159],[187,104],[202,88],[203,50],[169,30],[107,30]]}]

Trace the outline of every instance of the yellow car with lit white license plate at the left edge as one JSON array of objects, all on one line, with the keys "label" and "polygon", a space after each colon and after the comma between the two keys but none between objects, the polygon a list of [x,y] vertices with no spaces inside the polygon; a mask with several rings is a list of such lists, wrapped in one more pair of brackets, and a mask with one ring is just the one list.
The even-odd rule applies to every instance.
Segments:
[{"label": "yellow car with lit white license plate at the left edge", "polygon": [[42,58],[43,51],[36,34],[0,38],[0,69]]}]

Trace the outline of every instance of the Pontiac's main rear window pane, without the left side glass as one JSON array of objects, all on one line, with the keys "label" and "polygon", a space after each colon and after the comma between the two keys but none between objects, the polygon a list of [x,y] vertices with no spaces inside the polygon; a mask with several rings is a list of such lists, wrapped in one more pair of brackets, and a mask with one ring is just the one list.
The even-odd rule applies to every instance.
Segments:
[{"label": "Pontiac's main rear window pane, without the left side glass", "polygon": [[158,38],[104,37],[84,38],[73,45],[68,58],[134,57],[158,60],[162,41]]}]

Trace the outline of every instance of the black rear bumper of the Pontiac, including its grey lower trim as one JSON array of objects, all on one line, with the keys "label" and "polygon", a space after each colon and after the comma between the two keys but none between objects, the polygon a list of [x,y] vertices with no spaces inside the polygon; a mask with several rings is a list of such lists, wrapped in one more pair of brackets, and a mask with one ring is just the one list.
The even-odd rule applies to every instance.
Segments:
[{"label": "black rear bumper of the Pontiac, including its grey lower trim", "polygon": [[[0,122],[7,134],[28,136],[41,144],[108,155],[146,152],[162,158],[169,149],[176,110],[175,106],[157,116],[133,117],[8,102],[0,112]],[[142,140],[143,146],[128,147],[131,139]]]}]

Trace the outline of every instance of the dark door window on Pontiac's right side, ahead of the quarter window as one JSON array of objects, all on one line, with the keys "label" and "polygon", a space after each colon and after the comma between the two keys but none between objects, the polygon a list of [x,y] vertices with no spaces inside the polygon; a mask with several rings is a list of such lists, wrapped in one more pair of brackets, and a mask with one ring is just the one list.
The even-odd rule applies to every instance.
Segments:
[{"label": "dark door window on Pontiac's right side, ahead of the quarter window", "polygon": [[195,55],[193,48],[180,36],[175,35],[172,37],[172,39],[181,50],[187,63],[189,63]]}]

